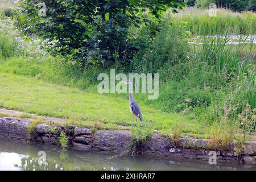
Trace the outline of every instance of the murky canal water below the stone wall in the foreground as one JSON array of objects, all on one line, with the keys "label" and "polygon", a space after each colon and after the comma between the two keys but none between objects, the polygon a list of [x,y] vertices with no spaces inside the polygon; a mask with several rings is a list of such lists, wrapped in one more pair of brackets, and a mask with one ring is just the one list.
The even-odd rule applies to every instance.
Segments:
[{"label": "murky canal water below the stone wall in the foreground", "polygon": [[[44,158],[44,155],[46,158]],[[44,160],[46,159],[46,160]],[[2,170],[256,170],[237,164],[210,165],[198,160],[148,157],[109,152],[62,151],[53,146],[0,138]]]}]

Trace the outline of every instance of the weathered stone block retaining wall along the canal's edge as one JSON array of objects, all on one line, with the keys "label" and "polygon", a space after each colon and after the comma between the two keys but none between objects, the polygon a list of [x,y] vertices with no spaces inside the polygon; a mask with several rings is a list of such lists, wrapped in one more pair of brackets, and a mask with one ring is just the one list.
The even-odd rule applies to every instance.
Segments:
[{"label": "weathered stone block retaining wall along the canal's edge", "polygon": [[[28,140],[44,144],[60,145],[60,131],[66,131],[69,136],[69,147],[75,150],[100,150],[122,153],[131,153],[134,150],[134,141],[130,131],[117,130],[91,130],[82,127],[55,126],[55,134],[51,133],[51,127],[39,124],[34,127],[32,134],[28,133],[32,119],[17,119],[11,117],[0,117],[0,136],[18,140]],[[146,142],[139,146],[142,154],[164,155],[176,158],[209,160],[209,140],[206,139],[181,139],[179,147],[167,137],[154,134],[148,137]],[[234,151],[216,151],[217,162],[242,163],[256,166],[256,142],[245,144],[245,154],[237,156]],[[137,146],[138,147],[138,146]]]}]

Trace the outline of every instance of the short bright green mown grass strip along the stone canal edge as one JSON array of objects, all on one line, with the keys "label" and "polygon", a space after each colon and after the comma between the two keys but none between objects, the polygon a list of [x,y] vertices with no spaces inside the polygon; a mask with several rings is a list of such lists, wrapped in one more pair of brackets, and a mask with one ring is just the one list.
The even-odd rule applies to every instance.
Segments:
[{"label": "short bright green mown grass strip along the stone canal edge", "polygon": [[[69,118],[79,126],[93,127],[98,119],[102,129],[131,129],[135,125],[131,123],[128,97],[123,100],[115,95],[85,92],[11,73],[1,72],[0,80],[0,101],[8,109]],[[141,110],[144,118],[151,120],[160,133],[170,132],[181,119],[185,123],[184,133],[203,132],[200,123],[181,118],[179,114],[163,113],[146,105],[141,105]]]}]

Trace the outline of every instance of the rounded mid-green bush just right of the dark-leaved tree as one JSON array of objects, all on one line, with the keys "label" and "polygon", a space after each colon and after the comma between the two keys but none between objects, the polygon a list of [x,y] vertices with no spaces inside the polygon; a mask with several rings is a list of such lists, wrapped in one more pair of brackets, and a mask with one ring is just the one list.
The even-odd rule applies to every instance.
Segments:
[{"label": "rounded mid-green bush just right of the dark-leaved tree", "polygon": [[143,49],[133,60],[133,69],[144,73],[157,73],[159,69],[168,69],[181,63],[188,50],[184,32],[183,27],[172,24],[170,16],[167,16],[152,45],[146,50]]}]

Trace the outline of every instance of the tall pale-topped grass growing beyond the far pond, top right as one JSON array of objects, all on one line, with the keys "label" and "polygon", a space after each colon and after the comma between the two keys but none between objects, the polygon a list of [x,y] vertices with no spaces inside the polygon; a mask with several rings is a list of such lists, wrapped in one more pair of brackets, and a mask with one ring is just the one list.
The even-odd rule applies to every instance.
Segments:
[{"label": "tall pale-topped grass growing beyond the far pond, top right", "polygon": [[201,10],[194,7],[181,10],[172,16],[172,22],[181,24],[192,35],[233,35],[255,34],[256,14],[250,11],[234,13],[226,9],[217,9],[217,16],[209,16],[207,9]]}]

